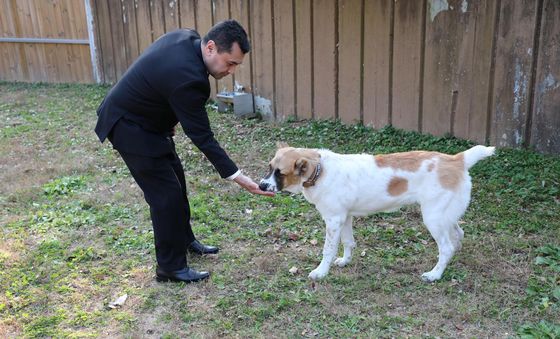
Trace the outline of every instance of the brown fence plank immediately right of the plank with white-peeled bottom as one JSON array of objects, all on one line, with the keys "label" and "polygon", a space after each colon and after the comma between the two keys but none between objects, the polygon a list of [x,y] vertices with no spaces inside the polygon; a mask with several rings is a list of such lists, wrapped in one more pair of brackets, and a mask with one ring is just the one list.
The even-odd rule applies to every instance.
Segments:
[{"label": "brown fence plank immediately right of the plank with white-peeled bottom", "polygon": [[292,1],[274,1],[276,117],[295,115],[294,22]]}]

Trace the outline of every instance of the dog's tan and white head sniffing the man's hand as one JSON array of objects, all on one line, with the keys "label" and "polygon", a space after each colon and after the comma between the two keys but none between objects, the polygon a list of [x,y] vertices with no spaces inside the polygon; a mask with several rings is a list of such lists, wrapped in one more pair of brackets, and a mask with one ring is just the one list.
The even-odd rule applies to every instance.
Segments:
[{"label": "dog's tan and white head sniffing the man's hand", "polygon": [[261,179],[259,188],[263,191],[288,191],[299,193],[303,183],[314,174],[321,155],[316,150],[294,148],[279,143],[274,158],[270,161],[268,174]]}]

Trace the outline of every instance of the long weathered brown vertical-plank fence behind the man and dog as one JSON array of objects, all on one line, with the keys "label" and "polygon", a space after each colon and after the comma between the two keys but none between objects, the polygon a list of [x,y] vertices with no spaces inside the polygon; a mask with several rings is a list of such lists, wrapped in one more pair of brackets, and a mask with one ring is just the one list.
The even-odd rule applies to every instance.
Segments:
[{"label": "long weathered brown vertical-plank fence behind the man and dog", "polygon": [[[11,3],[42,1],[65,3]],[[165,32],[203,35],[233,18],[253,49],[233,77],[211,81],[213,94],[237,82],[280,120],[392,124],[560,154],[558,0],[84,1],[100,82],[118,81]]]}]

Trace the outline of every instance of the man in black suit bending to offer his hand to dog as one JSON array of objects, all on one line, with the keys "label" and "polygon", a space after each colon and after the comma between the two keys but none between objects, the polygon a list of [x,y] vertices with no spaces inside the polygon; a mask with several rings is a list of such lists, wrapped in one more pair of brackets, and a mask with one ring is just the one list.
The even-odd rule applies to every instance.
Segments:
[{"label": "man in black suit bending to offer his hand to dog", "polygon": [[129,67],[97,110],[95,132],[101,142],[111,141],[150,206],[158,281],[206,279],[208,272],[189,268],[186,251],[218,252],[196,240],[191,229],[185,174],[173,142],[178,122],[222,178],[270,195],[220,147],[205,109],[208,75],[221,79],[232,74],[249,50],[247,33],[234,20],[216,24],[204,39],[193,30],[167,33]]}]

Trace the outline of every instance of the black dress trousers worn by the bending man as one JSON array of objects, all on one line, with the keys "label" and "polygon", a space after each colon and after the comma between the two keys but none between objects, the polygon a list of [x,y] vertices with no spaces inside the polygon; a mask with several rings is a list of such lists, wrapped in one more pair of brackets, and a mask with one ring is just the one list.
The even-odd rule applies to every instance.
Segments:
[{"label": "black dress trousers worn by the bending man", "polygon": [[[126,147],[128,143],[121,140],[122,137],[128,139],[131,129],[134,129],[136,137],[133,140],[136,142],[158,138],[158,143],[161,142],[160,149],[167,149],[168,152],[154,156],[135,154],[142,152],[129,149]],[[141,137],[141,134],[145,134],[145,137]],[[194,241],[195,237],[190,225],[185,174],[172,137],[142,131],[139,126],[121,119],[113,128],[109,139],[150,206],[158,265],[167,271],[185,267],[187,244]]]}]

